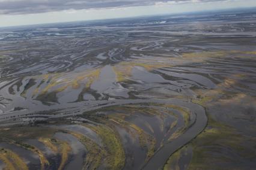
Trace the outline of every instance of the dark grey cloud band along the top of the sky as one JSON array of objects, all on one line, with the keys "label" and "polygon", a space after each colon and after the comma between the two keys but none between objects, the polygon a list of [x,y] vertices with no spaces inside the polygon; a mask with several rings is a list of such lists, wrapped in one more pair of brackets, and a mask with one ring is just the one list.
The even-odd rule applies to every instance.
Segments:
[{"label": "dark grey cloud band along the top of the sky", "polygon": [[[153,5],[157,2],[207,2],[216,0],[0,0],[0,14],[32,14],[61,10]],[[226,1],[226,0],[217,0]],[[231,0],[229,0],[231,1]]]}]

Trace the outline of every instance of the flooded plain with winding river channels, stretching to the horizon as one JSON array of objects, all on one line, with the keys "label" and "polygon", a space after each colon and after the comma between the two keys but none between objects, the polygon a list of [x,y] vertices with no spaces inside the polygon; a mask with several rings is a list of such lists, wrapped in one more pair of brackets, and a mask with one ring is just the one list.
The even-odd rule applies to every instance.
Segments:
[{"label": "flooded plain with winding river channels, stretching to the horizon", "polygon": [[230,13],[1,28],[0,169],[255,169],[256,13]]}]

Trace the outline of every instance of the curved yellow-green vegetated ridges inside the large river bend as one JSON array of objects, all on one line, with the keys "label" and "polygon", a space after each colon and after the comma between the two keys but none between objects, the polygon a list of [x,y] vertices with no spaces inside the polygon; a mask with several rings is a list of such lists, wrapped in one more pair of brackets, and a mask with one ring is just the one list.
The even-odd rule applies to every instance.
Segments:
[{"label": "curved yellow-green vegetated ridges inside the large river bend", "polygon": [[[174,139],[181,135],[184,130],[189,126],[190,122],[190,111],[187,108],[179,107],[176,105],[164,105],[164,104],[150,104],[150,107],[141,106],[141,105],[125,105],[125,106],[115,106],[115,107],[107,107],[99,111],[105,111],[108,116],[95,116],[93,113],[86,113],[87,119],[104,123],[105,125],[109,124],[109,121],[113,122],[117,126],[121,126],[122,128],[126,129],[134,139],[138,136],[139,144],[142,149],[147,150],[147,156],[145,162],[147,162],[150,157],[152,157],[156,151],[156,138],[154,135],[150,135],[149,132],[154,133],[154,129],[151,125],[145,121],[143,124],[145,127],[148,128],[149,132],[146,132],[140,126],[135,125],[135,123],[129,121],[129,117],[139,117],[141,116],[148,116],[148,117],[155,117],[156,120],[160,120],[159,128],[162,129],[163,132],[163,121],[166,119],[167,116],[175,116],[174,113],[167,110],[166,108],[173,108],[177,110],[184,117],[184,122],[186,127],[181,127],[180,129],[175,132],[170,138]],[[104,114],[101,114],[104,115]],[[92,119],[94,117],[94,119]],[[171,129],[177,125],[177,120],[171,124]]]}]

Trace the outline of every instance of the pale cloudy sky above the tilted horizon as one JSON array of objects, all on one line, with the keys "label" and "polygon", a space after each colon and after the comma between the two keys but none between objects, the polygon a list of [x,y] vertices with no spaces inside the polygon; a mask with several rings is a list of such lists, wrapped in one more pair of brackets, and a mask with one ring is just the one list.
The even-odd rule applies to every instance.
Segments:
[{"label": "pale cloudy sky above the tilted horizon", "polygon": [[0,27],[256,7],[256,0],[0,0]]}]

